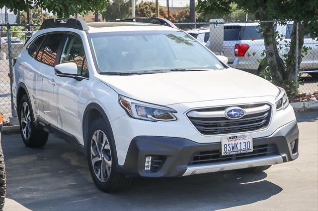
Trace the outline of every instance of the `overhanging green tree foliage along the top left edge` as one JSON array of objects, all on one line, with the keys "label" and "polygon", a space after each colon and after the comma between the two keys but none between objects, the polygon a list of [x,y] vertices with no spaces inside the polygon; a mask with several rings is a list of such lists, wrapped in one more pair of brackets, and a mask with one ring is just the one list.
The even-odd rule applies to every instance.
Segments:
[{"label": "overhanging green tree foliage along the top left edge", "polygon": [[76,13],[104,11],[108,0],[1,0],[0,8],[6,6],[15,14],[17,10],[27,11],[29,8],[43,8],[60,17],[69,17]]}]

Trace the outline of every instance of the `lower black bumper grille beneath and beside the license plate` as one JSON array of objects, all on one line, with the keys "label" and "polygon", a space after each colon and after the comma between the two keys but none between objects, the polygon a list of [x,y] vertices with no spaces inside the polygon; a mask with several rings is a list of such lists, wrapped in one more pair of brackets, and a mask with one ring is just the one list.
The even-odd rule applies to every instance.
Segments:
[{"label": "lower black bumper grille beneath and beside the license plate", "polygon": [[274,144],[263,144],[253,146],[253,152],[235,155],[222,156],[221,149],[213,151],[197,152],[191,156],[188,165],[197,165],[204,163],[215,163],[229,160],[238,160],[245,158],[255,158],[278,154],[277,147]]}]

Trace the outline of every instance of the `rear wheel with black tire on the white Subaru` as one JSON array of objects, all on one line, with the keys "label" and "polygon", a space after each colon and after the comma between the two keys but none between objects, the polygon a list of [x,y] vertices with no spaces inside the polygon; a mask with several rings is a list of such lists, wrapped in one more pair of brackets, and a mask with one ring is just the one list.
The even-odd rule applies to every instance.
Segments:
[{"label": "rear wheel with black tire on the white Subaru", "polygon": [[26,95],[23,95],[20,100],[18,116],[20,122],[21,137],[25,146],[30,148],[43,147],[48,140],[49,133],[36,128],[34,123],[33,110]]}]

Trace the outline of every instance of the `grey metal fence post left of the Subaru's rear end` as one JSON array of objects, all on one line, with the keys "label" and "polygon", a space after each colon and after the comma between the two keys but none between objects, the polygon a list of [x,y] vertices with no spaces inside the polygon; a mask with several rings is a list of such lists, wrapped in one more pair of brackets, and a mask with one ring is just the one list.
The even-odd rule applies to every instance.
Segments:
[{"label": "grey metal fence post left of the Subaru's rear end", "polygon": [[8,43],[8,59],[9,59],[9,73],[10,73],[10,97],[11,97],[11,116],[10,125],[16,125],[17,122],[17,115],[15,112],[14,104],[13,104],[13,95],[12,95],[12,76],[13,76],[13,64],[12,64],[12,46],[11,46],[11,30],[10,24],[7,23],[7,43]]}]

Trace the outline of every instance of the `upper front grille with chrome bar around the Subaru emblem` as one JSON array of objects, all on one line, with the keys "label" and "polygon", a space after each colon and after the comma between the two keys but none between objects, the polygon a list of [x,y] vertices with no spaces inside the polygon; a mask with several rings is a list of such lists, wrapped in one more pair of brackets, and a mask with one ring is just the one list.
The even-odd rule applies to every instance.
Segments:
[{"label": "upper front grille with chrome bar around the Subaru emblem", "polygon": [[268,104],[241,105],[246,114],[239,119],[228,119],[225,110],[232,106],[195,109],[187,113],[196,129],[204,135],[254,131],[268,126],[271,106]]}]

